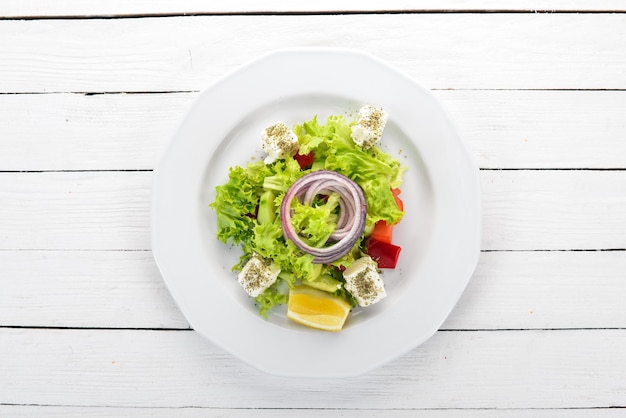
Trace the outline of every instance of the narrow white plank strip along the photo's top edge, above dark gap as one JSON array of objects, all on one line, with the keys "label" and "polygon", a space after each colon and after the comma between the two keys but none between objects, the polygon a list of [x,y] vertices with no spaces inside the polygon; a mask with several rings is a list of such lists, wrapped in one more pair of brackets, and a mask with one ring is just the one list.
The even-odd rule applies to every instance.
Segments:
[{"label": "narrow white plank strip along the photo's top edge, above dark gap", "polygon": [[371,12],[371,11],[623,11],[624,3],[602,0],[590,3],[583,0],[382,0],[332,1],[318,0],[294,2],[290,0],[202,0],[185,2],[172,0],[122,0],[84,1],[65,0],[51,5],[42,0],[5,0],[2,15],[5,17],[84,17],[84,16],[137,16],[197,13],[285,13],[285,12]]}]

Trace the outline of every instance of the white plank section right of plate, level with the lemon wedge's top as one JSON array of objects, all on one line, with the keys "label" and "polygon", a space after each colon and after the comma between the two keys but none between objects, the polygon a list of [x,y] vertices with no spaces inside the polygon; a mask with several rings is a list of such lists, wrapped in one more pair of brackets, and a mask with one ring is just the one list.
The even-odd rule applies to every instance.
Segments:
[{"label": "white plank section right of plate, level with the lemon wedge's top", "polygon": [[487,252],[441,328],[626,328],[624,300],[626,251]]}]

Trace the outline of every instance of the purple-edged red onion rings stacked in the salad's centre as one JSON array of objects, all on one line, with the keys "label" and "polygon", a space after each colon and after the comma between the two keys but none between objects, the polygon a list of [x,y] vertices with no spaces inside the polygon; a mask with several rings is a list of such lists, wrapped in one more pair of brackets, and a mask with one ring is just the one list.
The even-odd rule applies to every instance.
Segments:
[{"label": "purple-edged red onion rings stacked in the salad's centre", "polygon": [[[326,247],[312,247],[304,242],[291,224],[291,202],[297,198],[305,205],[312,204],[315,196],[329,193],[339,194],[339,219],[330,240],[336,241]],[[313,263],[326,264],[346,255],[358,241],[365,228],[367,204],[363,190],[354,181],[335,171],[320,170],[306,174],[296,180],[283,199],[280,217],[283,233],[296,247],[311,254]]]}]

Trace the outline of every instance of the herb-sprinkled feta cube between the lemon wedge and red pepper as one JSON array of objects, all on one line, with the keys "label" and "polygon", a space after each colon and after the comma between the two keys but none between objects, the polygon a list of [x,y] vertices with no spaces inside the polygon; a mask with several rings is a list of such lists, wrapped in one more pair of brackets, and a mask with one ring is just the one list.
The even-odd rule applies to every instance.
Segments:
[{"label": "herb-sprinkled feta cube between the lemon wedge and red pepper", "polygon": [[376,262],[369,256],[356,260],[344,272],[345,288],[359,306],[369,306],[387,296]]}]

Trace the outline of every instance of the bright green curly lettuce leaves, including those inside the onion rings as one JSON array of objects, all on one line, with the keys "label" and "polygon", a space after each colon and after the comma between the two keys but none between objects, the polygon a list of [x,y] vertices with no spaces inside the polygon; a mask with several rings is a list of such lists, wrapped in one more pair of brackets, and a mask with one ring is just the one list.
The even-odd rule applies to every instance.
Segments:
[{"label": "bright green curly lettuce leaves, including those inside the onion rings", "polygon": [[[240,245],[243,254],[234,270],[241,269],[253,253],[271,259],[280,269],[279,279],[255,298],[262,316],[276,305],[287,302],[285,288],[297,282],[316,282],[320,277],[342,280],[340,266],[350,265],[360,256],[360,242],[352,251],[331,265],[313,264],[313,256],[302,252],[283,236],[280,206],[285,192],[300,177],[313,170],[337,171],[354,180],[363,190],[367,202],[367,227],[384,220],[389,224],[399,222],[404,212],[398,209],[392,188],[402,182],[405,167],[378,147],[364,150],[351,138],[351,124],[342,116],[331,116],[325,124],[317,117],[295,125],[299,153],[313,153],[311,168],[301,169],[298,161],[287,157],[265,164],[252,162],[245,167],[229,170],[228,181],[216,187],[215,200],[209,205],[217,214],[217,238]],[[260,222],[257,218],[261,195],[272,191],[275,216],[271,221]],[[267,195],[267,194],[266,194]],[[292,224],[311,246],[323,246],[336,227],[339,213],[339,197],[330,194],[312,205],[304,205],[294,199]],[[267,217],[266,217],[267,218]],[[343,288],[335,292],[354,304]]]}]

